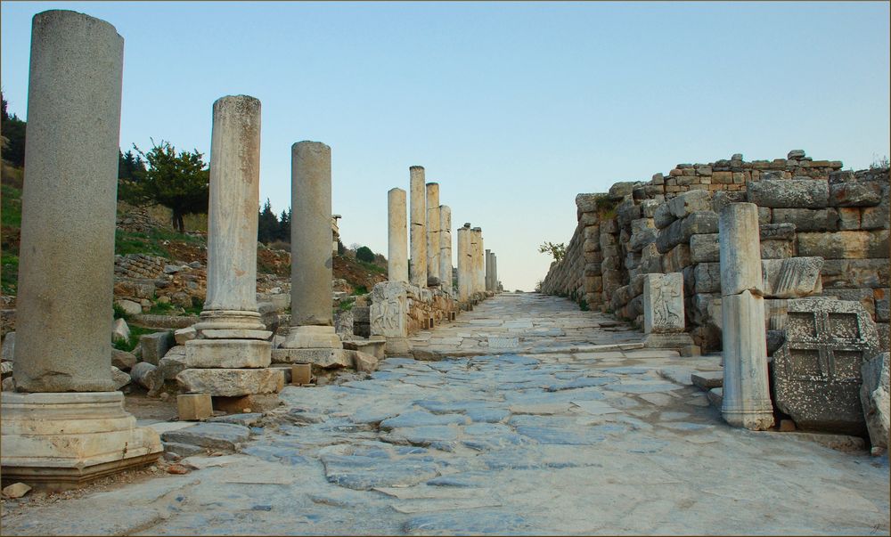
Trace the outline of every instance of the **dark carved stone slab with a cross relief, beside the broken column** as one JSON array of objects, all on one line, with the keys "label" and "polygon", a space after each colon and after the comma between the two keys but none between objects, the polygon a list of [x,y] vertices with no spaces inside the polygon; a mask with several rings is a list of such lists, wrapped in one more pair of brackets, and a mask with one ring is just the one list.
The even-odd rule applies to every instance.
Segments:
[{"label": "dark carved stone slab with a cross relief, beside the broken column", "polygon": [[855,302],[789,300],[786,341],[773,354],[777,406],[798,427],[862,435],[861,365],[877,354],[879,335]]}]

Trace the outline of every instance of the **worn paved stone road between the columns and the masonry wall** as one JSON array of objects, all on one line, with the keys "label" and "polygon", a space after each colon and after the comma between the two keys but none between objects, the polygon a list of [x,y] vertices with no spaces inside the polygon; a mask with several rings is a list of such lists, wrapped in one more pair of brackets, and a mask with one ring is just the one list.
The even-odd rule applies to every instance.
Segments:
[{"label": "worn paved stone road between the columns and the masonry wall", "polygon": [[717,358],[641,339],[501,295],[413,340],[498,354],[287,387],[239,453],[4,517],[4,534],[888,534],[887,458],[727,427],[688,386]]}]

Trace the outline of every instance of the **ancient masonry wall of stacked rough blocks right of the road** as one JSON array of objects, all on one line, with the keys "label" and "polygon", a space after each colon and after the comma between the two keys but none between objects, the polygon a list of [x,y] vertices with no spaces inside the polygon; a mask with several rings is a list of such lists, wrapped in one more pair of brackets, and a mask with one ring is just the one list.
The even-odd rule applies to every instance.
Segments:
[{"label": "ancient masonry wall of stacked rough blocks right of the road", "polygon": [[[608,193],[579,194],[578,225],[541,289],[642,324],[643,274],[683,273],[686,330],[703,351],[719,350],[717,213],[748,201],[758,206],[762,258],[822,257],[810,296],[859,301],[887,349],[888,168],[841,168],[804,151],[773,160],[734,155],[679,164],[667,176],[616,183]],[[768,299],[767,309],[768,322],[776,322],[785,300]]]}]

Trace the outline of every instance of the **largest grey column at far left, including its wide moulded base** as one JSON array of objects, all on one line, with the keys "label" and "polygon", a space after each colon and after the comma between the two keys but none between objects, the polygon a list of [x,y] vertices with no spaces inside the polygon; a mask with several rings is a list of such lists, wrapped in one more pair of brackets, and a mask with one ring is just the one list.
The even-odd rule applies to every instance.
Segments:
[{"label": "largest grey column at far left, including its wide moulded base", "polygon": [[161,446],[111,378],[124,39],[83,13],[40,12],[30,58],[18,393],[2,395],[0,466],[4,482],[58,490],[150,463]]}]

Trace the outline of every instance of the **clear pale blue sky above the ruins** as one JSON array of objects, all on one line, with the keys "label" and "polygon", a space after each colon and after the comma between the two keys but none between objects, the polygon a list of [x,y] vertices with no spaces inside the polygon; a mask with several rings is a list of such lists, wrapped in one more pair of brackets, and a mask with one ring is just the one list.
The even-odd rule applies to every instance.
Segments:
[{"label": "clear pale blue sky above the ruins", "polygon": [[506,289],[568,241],[578,192],[680,162],[889,151],[888,3],[3,2],[2,84],[25,116],[31,17],[125,39],[120,145],[210,147],[211,105],[262,102],[261,198],[290,205],[290,145],[331,145],[347,245],[387,252],[387,191],[427,169],[483,228]]}]

